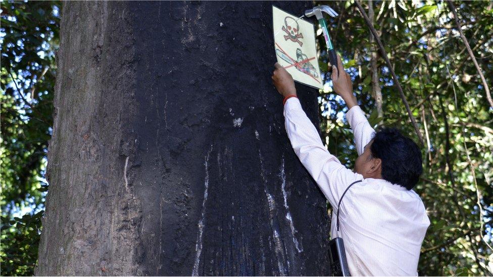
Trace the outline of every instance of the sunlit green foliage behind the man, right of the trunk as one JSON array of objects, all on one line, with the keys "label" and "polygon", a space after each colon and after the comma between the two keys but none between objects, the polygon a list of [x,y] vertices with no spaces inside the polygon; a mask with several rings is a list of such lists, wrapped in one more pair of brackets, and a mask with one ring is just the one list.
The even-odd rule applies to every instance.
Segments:
[{"label": "sunlit green foliage behind the man, right of the trunk", "polygon": [[[369,12],[369,2],[360,2]],[[375,126],[397,127],[416,142],[385,62],[377,54],[383,117],[375,108],[371,53],[378,49],[353,1],[317,2],[339,13],[330,34],[344,66],[354,79],[360,106]],[[493,110],[486,101],[479,74],[446,3],[435,1],[374,1],[373,25],[401,82],[425,145],[424,173],[416,192],[431,220],[423,242],[419,273],[483,275],[493,273]],[[492,2],[455,2],[462,30],[483,70],[493,80]],[[327,71],[325,42],[320,39],[322,70]],[[346,108],[334,97],[330,79],[319,98],[322,137],[329,151],[352,167],[356,151],[340,113]]]}]

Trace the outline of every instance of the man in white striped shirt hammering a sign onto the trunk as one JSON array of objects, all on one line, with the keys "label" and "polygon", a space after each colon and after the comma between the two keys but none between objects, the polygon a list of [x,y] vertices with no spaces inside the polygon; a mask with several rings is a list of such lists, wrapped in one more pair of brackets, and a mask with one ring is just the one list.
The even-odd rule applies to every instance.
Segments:
[{"label": "man in white striped shirt hammering a sign onto the trunk", "polygon": [[284,96],[286,132],[294,152],[315,179],[333,208],[332,238],[340,204],[339,236],[344,241],[352,275],[416,275],[421,243],[430,221],[419,196],[412,190],[422,172],[421,152],[396,129],[375,132],[356,97],[351,77],[338,57],[332,67],[335,92],[348,105],[346,118],[353,129],[356,149],[354,172],[344,167],[322,144],[315,126],[296,97],[289,73],[276,63],[274,85]]}]

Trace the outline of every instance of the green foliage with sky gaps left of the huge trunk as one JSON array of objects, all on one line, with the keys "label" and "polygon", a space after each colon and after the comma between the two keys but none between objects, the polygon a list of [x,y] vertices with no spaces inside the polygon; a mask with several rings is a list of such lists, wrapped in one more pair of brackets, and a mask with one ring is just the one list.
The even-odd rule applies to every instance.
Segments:
[{"label": "green foliage with sky gaps left of the huge trunk", "polygon": [[3,275],[32,275],[47,184],[60,3],[1,4]]}]

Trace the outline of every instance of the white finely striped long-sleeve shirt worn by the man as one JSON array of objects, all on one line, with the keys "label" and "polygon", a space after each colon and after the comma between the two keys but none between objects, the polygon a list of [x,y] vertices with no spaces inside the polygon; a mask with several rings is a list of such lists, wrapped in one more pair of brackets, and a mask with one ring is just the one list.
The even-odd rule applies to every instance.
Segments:
[{"label": "white finely striped long-sleeve shirt worn by the man", "polygon": [[[340,196],[354,181],[340,204],[339,233],[344,241],[349,270],[358,275],[416,275],[421,243],[430,221],[413,190],[382,179],[364,179],[327,151],[303,111],[298,98],[284,105],[286,132],[294,152],[315,179],[333,208],[331,236],[337,237],[336,214]],[[361,155],[374,130],[359,106],[346,118]]]}]

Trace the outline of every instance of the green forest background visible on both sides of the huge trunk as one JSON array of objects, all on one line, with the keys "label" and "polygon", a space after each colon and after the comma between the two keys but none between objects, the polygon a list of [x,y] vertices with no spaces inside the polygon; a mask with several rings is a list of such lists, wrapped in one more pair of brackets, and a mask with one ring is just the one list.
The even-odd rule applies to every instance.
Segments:
[{"label": "green forest background visible on both sides of the huge trunk", "polygon": [[[423,137],[424,172],[415,191],[431,226],[422,245],[419,274],[491,275],[493,107],[487,94],[493,81],[493,2],[454,1],[456,15],[441,1],[358,3],[382,40]],[[370,123],[397,127],[419,143],[357,3],[319,4],[339,13],[326,18],[329,32]],[[53,125],[61,5],[2,1],[0,6],[2,275],[32,275],[37,261],[49,188],[44,173]],[[331,153],[352,167],[357,153],[343,116],[346,108],[332,92],[325,74],[325,42],[321,30],[317,34],[325,81],[319,96],[321,137]]]}]

